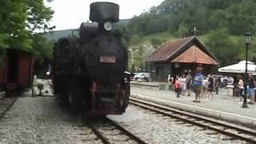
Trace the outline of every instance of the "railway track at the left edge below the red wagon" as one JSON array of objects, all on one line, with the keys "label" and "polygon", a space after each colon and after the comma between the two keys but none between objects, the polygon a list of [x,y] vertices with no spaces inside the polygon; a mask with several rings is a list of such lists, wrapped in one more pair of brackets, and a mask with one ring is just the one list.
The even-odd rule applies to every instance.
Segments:
[{"label": "railway track at the left edge below the red wagon", "polygon": [[0,99],[0,121],[2,117],[6,114],[6,111],[10,109],[10,106],[12,106],[16,100],[16,97],[6,96]]}]

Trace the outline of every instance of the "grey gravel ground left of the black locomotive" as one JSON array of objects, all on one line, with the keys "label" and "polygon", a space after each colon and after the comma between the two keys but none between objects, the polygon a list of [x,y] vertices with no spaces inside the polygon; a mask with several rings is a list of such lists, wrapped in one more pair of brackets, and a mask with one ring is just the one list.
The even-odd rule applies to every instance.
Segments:
[{"label": "grey gravel ground left of the black locomotive", "polygon": [[0,122],[0,143],[102,143],[54,97],[22,97]]}]

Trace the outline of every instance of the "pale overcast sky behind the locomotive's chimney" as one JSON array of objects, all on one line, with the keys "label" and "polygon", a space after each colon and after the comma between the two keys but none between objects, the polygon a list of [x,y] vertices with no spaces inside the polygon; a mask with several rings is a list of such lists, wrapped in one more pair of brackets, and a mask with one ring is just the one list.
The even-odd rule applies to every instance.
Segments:
[{"label": "pale overcast sky behind the locomotive's chimney", "polygon": [[[46,1],[46,0],[45,0]],[[117,3],[119,7],[119,18],[132,18],[134,15],[142,14],[150,7],[158,6],[164,0],[107,0],[106,2]],[[45,2],[54,10],[54,18],[50,22],[51,26],[56,26],[54,30],[67,30],[78,28],[82,22],[89,20],[90,3],[102,2],[97,0],[54,0]]]}]

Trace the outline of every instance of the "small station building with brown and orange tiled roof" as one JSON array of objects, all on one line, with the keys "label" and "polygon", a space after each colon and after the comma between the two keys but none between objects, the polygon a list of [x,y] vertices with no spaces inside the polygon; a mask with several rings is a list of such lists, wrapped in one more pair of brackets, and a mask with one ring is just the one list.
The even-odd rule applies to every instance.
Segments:
[{"label": "small station building with brown and orange tiled roof", "polygon": [[196,69],[208,74],[213,66],[218,65],[218,59],[196,37],[166,42],[144,62],[153,82],[166,82],[168,74],[173,77],[188,73],[194,75]]}]

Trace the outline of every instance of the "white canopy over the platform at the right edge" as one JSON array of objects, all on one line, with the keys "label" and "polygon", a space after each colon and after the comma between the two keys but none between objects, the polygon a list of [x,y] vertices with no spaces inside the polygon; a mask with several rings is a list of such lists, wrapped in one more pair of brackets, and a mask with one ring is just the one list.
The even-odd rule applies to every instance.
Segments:
[{"label": "white canopy over the platform at the right edge", "polygon": [[[256,65],[254,65],[254,62],[247,61],[247,73],[256,75],[255,69]],[[221,67],[218,69],[218,72],[244,74],[246,72],[246,61],[244,60],[234,65]]]}]

